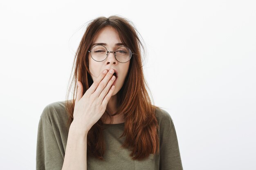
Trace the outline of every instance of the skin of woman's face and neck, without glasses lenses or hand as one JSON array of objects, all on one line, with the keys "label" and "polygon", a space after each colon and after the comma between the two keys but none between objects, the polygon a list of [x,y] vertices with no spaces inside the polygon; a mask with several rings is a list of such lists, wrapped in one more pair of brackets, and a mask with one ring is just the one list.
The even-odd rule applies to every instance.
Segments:
[{"label": "skin of woman's face and neck, without glasses lenses or hand", "polygon": [[[111,26],[107,26],[98,33],[98,35],[93,41],[93,44],[94,43],[106,43],[107,45],[105,47],[108,51],[115,51],[119,47],[115,46],[115,44],[121,43],[121,40],[119,38],[117,31]],[[116,60],[114,53],[108,53],[108,57],[102,62],[97,62],[93,60],[92,57],[89,55],[89,70],[92,73],[91,77],[93,81],[95,81],[104,70],[110,70],[111,68],[117,70],[118,78],[115,83],[115,91],[113,92],[112,97],[110,98],[107,104],[107,106],[110,108],[111,113],[115,113],[117,110],[116,94],[119,92],[119,90],[124,84],[124,80],[128,73],[129,65],[130,60],[126,63],[120,63]],[[104,113],[103,116],[105,114],[106,113]],[[124,115],[116,115],[113,117],[113,119],[113,124],[123,123]],[[110,123],[110,121],[106,121],[103,123]]]}]

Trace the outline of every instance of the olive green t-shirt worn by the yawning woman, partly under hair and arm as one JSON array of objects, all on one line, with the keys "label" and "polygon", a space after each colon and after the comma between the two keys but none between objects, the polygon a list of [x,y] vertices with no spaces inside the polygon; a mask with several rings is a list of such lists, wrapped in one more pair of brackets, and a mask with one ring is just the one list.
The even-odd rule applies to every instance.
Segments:
[{"label": "olive green t-shirt worn by the yawning woman, partly under hair and arm", "polygon": [[[87,170],[183,170],[173,119],[163,109],[156,110],[159,123],[160,154],[143,161],[132,160],[130,150],[121,148],[124,123],[104,124],[105,161],[87,157]],[[36,170],[61,170],[67,145],[68,115],[65,101],[48,104],[40,116],[36,146]]]}]

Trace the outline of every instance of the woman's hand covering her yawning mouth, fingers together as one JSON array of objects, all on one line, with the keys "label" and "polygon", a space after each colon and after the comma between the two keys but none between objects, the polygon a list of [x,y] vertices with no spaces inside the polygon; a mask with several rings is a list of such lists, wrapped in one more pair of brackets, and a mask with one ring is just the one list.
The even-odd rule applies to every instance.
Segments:
[{"label": "woman's hand covering her yawning mouth, fingers together", "polygon": [[77,133],[87,133],[105,112],[108,101],[115,90],[115,86],[112,86],[116,78],[113,73],[113,69],[107,73],[100,73],[84,95],[81,82],[77,82],[74,120],[72,121],[72,127]]}]

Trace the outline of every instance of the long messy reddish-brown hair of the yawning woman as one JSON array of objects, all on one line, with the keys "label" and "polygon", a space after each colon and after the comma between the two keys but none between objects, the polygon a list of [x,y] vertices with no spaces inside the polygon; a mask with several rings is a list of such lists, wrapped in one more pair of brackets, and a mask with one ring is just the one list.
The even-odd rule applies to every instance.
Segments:
[{"label": "long messy reddish-brown hair of the yawning woman", "polygon": [[[112,26],[118,32],[121,42],[128,46],[132,53],[134,53],[130,59],[129,70],[124,85],[117,93],[117,112],[112,114],[113,116],[123,113],[125,117],[124,133],[121,137],[126,136],[126,140],[122,147],[129,148],[132,151],[130,157],[133,160],[144,159],[149,154],[159,154],[159,125],[155,115],[155,111],[159,107],[152,104],[146,90],[148,85],[144,79],[141,56],[141,49],[145,53],[145,48],[141,43],[134,24],[124,17],[117,15],[112,15],[108,18],[98,17],[91,20],[88,24],[76,51],[72,67],[72,70],[74,69],[74,75],[66,95],[66,110],[69,115],[67,126],[70,126],[73,121],[75,95],[77,91],[76,80],[79,80],[83,84],[83,94],[93,83],[89,71],[89,55],[87,51],[90,49],[97,33],[106,26]],[[69,100],[68,96],[72,84],[74,84],[74,93],[73,98]],[[106,113],[112,120],[108,107],[106,108]],[[104,160],[103,154],[106,150],[103,138],[103,120],[104,118],[101,117],[92,126],[87,135],[87,154],[100,160]]]}]

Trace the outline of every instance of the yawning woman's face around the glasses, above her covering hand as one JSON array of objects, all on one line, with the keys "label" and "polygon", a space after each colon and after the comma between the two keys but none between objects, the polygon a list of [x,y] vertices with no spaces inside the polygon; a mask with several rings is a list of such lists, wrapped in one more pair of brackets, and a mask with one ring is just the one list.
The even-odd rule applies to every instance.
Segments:
[{"label": "yawning woman's face around the glasses, above her covering hand", "polygon": [[[105,28],[103,28],[98,33],[92,44],[94,43],[106,43],[106,45],[103,46],[105,46],[108,51],[116,51],[119,46],[122,46],[116,46],[117,43],[121,43],[121,40],[116,30],[113,29],[111,26],[106,26]],[[95,81],[100,73],[102,73],[105,69],[109,71],[111,68],[113,68],[115,71],[117,71],[117,77],[115,80],[115,91],[112,94],[116,95],[124,84],[124,80],[128,73],[130,60],[126,63],[120,63],[116,60],[114,53],[108,53],[108,57],[102,62],[97,62],[93,60],[90,54],[88,57],[89,70],[92,73],[91,77],[93,81]]]}]

